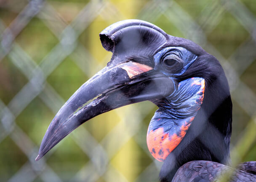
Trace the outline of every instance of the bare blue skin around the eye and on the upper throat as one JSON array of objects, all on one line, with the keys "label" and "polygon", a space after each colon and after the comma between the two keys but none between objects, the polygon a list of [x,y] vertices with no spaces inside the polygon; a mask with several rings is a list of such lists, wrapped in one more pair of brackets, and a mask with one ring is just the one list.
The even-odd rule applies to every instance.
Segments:
[{"label": "bare blue skin around the eye and on the upper throat", "polygon": [[[179,66],[168,66],[165,58],[178,58]],[[197,56],[183,47],[166,47],[154,56],[155,70],[175,80],[175,77],[182,75],[189,66],[197,59]],[[175,60],[173,60],[176,62]],[[188,78],[181,81],[178,88],[170,96],[160,99],[154,103],[159,107],[149,124],[149,131],[163,127],[164,132],[171,136],[174,133],[179,135],[182,125],[188,125],[191,118],[195,117],[202,102],[197,101],[203,94],[203,85],[193,84],[195,81],[201,83],[203,78]]]}]

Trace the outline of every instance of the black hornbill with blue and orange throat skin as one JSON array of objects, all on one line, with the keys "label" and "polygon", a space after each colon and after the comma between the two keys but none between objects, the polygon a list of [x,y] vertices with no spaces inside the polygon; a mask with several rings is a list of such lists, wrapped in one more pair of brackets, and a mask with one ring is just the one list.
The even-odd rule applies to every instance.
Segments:
[{"label": "black hornbill with blue and orange throat skin", "polygon": [[[229,164],[232,101],[219,61],[146,21],[119,21],[99,36],[111,60],[61,107],[36,160],[87,120],[148,100],[159,107],[149,123],[147,146],[163,161],[161,182],[212,181],[229,170],[224,164]],[[255,172],[254,162],[243,163],[231,180],[256,181]]]}]

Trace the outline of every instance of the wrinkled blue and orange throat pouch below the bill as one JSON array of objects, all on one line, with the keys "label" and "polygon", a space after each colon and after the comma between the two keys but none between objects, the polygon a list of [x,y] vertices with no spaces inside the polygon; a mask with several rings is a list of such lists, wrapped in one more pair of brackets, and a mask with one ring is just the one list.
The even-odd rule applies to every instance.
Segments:
[{"label": "wrinkled blue and orange throat pouch below the bill", "polygon": [[[181,91],[184,86],[189,89]],[[205,81],[203,78],[189,78],[185,81],[181,81],[176,94],[170,96],[170,98],[177,95],[183,97],[176,99],[178,102],[176,104],[179,104],[181,109],[173,108],[172,111],[166,109],[166,107],[172,108],[171,103],[173,99],[165,99],[164,102],[159,102],[161,103],[159,106],[160,109],[156,111],[147,131],[147,146],[155,159],[164,161],[174,148],[179,145],[186,135],[191,122],[194,120],[198,109],[200,109],[203,102],[204,91]],[[186,106],[188,103],[187,108],[184,107],[184,105]],[[186,112],[187,110],[191,110],[191,112]],[[189,113],[188,116],[187,113]],[[163,117],[163,115],[165,117]]]}]

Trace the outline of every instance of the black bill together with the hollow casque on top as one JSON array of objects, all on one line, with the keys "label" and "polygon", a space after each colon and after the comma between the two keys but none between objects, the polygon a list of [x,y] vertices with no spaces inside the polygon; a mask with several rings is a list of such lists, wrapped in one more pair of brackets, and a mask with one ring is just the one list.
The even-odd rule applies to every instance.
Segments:
[{"label": "black bill together with the hollow casque on top", "polygon": [[[152,62],[144,64],[125,58],[129,52],[133,54],[136,52],[137,55],[138,52],[149,54],[158,49],[165,43],[163,32],[159,32],[161,29],[137,20],[133,20],[132,25],[131,21],[118,23],[116,26],[114,26],[116,23],[112,27],[109,26],[110,28],[108,27],[100,34],[103,47],[113,52],[111,62],[85,82],[61,107],[45,133],[36,161],[72,130],[101,113],[140,101],[164,98],[173,93],[176,83],[149,66],[154,65]],[[144,23],[142,28],[141,23]],[[128,30],[124,35],[124,29],[131,26],[133,29]],[[113,29],[115,31],[111,32]],[[120,35],[117,35],[120,29],[122,30]],[[117,40],[129,39],[127,44],[132,44],[132,48],[127,44],[124,46],[122,41],[112,39],[111,36],[114,34],[115,38],[119,36]],[[151,34],[155,35],[150,36]],[[138,37],[136,39],[125,37],[130,35],[150,38],[138,41]],[[88,104],[92,99],[94,100]]]}]

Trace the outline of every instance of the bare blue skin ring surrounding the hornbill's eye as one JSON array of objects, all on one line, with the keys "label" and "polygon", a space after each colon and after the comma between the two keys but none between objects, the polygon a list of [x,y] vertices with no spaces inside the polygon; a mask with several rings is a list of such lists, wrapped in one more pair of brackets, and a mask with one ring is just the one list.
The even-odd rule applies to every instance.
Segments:
[{"label": "bare blue skin ring surrounding the hornbill's eye", "polygon": [[[183,68],[173,72],[164,63],[164,58],[166,56],[179,57],[182,60]],[[183,47],[166,47],[154,55],[155,70],[161,71],[168,77],[179,76],[185,73],[189,66],[197,59],[197,55],[188,51]]]}]

